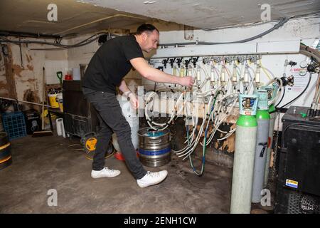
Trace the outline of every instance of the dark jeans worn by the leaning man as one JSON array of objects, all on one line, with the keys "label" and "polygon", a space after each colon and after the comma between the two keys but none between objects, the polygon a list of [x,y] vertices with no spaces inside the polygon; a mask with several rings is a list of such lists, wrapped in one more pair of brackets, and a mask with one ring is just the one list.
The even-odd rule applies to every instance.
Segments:
[{"label": "dark jeans worn by the leaning man", "polygon": [[117,135],[119,147],[132,175],[136,179],[144,177],[146,170],[144,170],[142,163],[137,158],[136,150],[134,150],[134,145],[132,144],[130,125],[122,115],[116,95],[87,88],[83,88],[83,93],[97,110],[100,122],[92,170],[99,171],[105,167],[105,152],[114,132]]}]

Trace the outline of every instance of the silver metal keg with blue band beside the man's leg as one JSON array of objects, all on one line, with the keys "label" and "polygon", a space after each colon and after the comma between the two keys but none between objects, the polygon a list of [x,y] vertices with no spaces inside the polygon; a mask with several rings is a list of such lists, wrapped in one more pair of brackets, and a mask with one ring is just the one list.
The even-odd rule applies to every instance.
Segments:
[{"label": "silver metal keg with blue band beside the man's leg", "polygon": [[138,130],[139,159],[148,167],[166,165],[171,160],[170,131],[142,128]]}]

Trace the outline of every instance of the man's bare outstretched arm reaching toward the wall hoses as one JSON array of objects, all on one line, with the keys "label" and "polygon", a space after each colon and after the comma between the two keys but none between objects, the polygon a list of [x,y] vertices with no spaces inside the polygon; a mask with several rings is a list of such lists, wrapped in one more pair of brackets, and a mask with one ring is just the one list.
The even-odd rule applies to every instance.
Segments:
[{"label": "man's bare outstretched arm reaching toward the wall hoses", "polygon": [[132,58],[130,60],[131,65],[146,79],[155,81],[157,83],[173,83],[181,86],[193,86],[194,78],[191,76],[177,77],[168,73],[159,71],[156,68],[152,68],[146,63],[144,58]]}]

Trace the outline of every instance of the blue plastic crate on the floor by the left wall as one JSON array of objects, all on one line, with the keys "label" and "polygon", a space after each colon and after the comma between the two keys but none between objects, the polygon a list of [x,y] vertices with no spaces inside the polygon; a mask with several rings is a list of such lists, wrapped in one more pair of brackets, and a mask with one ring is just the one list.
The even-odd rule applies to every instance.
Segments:
[{"label": "blue plastic crate on the floor by the left wall", "polygon": [[2,124],[9,140],[26,136],[26,121],[22,112],[2,113]]}]

